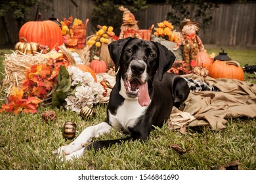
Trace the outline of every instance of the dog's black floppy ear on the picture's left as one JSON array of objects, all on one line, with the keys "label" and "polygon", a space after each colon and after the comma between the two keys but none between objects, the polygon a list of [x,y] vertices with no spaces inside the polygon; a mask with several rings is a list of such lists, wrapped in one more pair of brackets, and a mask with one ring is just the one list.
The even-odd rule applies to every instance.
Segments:
[{"label": "dog's black floppy ear on the picture's left", "polygon": [[119,67],[119,59],[121,58],[121,53],[123,51],[123,46],[125,46],[126,42],[133,39],[132,37],[127,37],[126,39],[119,39],[117,41],[111,42],[108,44],[108,51],[110,52],[110,57],[114,61],[116,65],[116,72]]}]

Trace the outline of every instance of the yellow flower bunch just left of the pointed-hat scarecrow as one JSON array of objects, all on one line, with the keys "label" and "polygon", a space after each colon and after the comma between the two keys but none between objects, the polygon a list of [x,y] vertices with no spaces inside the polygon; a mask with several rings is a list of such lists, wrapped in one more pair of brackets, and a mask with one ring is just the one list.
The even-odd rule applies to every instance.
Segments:
[{"label": "yellow flower bunch just left of the pointed-hat scarecrow", "polygon": [[109,39],[117,39],[115,33],[113,32],[113,27],[106,25],[98,25],[99,30],[95,34],[91,35],[87,44],[91,49],[91,56],[100,56],[100,48],[102,44],[108,44]]}]

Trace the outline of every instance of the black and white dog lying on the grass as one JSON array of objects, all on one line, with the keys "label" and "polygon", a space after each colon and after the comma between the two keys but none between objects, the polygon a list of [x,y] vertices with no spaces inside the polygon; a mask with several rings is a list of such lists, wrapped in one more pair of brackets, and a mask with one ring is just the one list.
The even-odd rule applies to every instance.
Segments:
[{"label": "black and white dog lying on the grass", "polygon": [[[136,38],[121,39],[109,46],[110,56],[119,69],[104,122],[87,127],[67,146],[58,148],[65,159],[78,158],[85,150],[99,150],[112,144],[148,138],[154,126],[161,127],[173,106],[179,107],[190,92],[184,78],[165,73],[175,61],[174,54],[158,42]],[[92,137],[110,132],[112,127],[130,133],[125,139],[95,141]]]}]

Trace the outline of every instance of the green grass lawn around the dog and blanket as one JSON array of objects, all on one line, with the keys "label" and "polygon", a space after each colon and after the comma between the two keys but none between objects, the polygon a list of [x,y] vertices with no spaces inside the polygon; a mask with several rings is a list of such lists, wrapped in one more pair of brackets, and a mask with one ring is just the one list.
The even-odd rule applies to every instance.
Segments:
[{"label": "green grass lawn around the dog and blanket", "polygon": [[[254,52],[225,52],[241,65],[247,58],[256,63]],[[57,115],[49,125],[41,117],[46,110],[54,110]],[[74,112],[52,107],[39,107],[36,114],[0,114],[0,169],[219,169],[232,160],[242,163],[243,169],[256,169],[256,120],[249,118],[228,120],[224,131],[190,128],[186,135],[164,125],[152,131],[146,142],[125,142],[98,152],[88,151],[80,159],[62,163],[52,154],[56,148],[71,142],[63,139],[62,125],[74,121],[79,135],[85,127],[98,124],[106,117],[106,105],[98,105],[94,110],[96,117],[89,121]],[[98,139],[124,136],[122,131],[113,129]],[[171,144],[179,144],[188,152],[180,155]]]}]

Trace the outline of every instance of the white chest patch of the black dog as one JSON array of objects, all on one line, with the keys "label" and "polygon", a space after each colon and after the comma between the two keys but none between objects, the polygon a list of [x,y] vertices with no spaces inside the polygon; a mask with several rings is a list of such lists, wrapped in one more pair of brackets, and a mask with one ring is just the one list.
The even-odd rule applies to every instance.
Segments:
[{"label": "white chest patch of the black dog", "polygon": [[109,120],[112,127],[117,127],[129,131],[128,127],[133,127],[137,124],[139,117],[144,114],[148,107],[139,105],[138,100],[125,99],[123,105],[117,108],[116,115],[109,114]]}]

